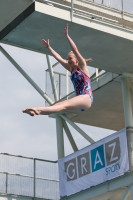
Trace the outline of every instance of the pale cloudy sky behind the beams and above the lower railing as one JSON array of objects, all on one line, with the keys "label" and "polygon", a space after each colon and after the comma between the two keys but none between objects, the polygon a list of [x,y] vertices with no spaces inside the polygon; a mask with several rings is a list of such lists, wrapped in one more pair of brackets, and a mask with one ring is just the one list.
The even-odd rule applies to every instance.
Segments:
[{"label": "pale cloudy sky behind the beams and above the lower railing", "polygon": [[[45,91],[45,55],[9,45],[1,46]],[[54,60],[52,60],[54,61]],[[48,116],[30,117],[22,109],[45,106],[45,100],[0,52],[0,152],[57,160],[55,120]],[[95,141],[114,131],[77,124]],[[69,126],[70,127],[70,126]],[[79,149],[89,143],[70,127]],[[73,150],[65,136],[65,154]]]}]

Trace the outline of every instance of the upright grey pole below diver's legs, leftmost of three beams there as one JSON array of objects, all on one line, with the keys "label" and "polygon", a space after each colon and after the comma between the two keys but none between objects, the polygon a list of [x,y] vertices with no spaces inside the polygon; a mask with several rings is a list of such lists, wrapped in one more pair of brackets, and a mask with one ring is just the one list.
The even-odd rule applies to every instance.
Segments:
[{"label": "upright grey pole below diver's legs, leftmost of three beams there", "polygon": [[64,157],[63,122],[60,116],[56,117],[57,151],[58,159]]}]

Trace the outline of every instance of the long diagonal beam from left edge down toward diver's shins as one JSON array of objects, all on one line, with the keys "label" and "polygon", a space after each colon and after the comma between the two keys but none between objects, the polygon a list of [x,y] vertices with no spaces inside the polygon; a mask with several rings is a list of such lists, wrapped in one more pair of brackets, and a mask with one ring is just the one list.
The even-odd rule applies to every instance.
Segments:
[{"label": "long diagonal beam from left edge down toward diver's shins", "polygon": [[51,105],[53,101],[44,93],[41,88],[26,74],[26,72],[16,63],[16,61],[0,46],[0,51],[16,67],[16,69],[26,78],[26,80],[37,90],[37,92]]}]

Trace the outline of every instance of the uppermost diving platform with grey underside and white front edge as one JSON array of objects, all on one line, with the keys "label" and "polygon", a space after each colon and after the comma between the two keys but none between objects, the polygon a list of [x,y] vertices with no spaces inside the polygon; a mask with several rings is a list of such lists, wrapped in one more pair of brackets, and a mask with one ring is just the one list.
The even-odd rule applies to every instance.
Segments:
[{"label": "uppermost diving platform with grey underside and white front edge", "polygon": [[[64,27],[69,23],[70,36],[81,54],[93,59],[92,67],[117,74],[133,73],[132,15],[124,14],[127,23],[122,25],[118,20],[121,19],[121,14],[116,10],[104,6],[98,8],[97,4],[90,3],[82,4],[81,10],[74,10],[72,13],[68,6],[70,3],[66,3],[67,1],[1,0],[0,42],[49,55],[41,40],[50,39],[51,46],[66,58],[70,47],[64,36]],[[88,16],[83,10],[85,6],[91,7],[91,12],[94,12]],[[99,10],[99,17],[96,10]],[[6,12],[8,16],[4,18]],[[108,12],[108,16],[105,12]],[[118,19],[113,20],[116,16]]]}]

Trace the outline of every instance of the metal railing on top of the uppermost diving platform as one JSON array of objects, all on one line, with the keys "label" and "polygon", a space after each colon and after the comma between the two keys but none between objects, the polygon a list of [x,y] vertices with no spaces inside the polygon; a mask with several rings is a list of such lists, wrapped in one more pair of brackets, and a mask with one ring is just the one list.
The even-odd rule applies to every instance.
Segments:
[{"label": "metal railing on top of the uppermost diving platform", "polygon": [[102,23],[133,29],[132,0],[36,0],[38,2],[70,11],[73,17],[98,20]]}]

